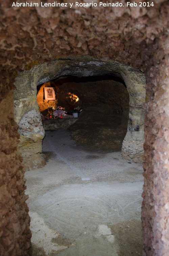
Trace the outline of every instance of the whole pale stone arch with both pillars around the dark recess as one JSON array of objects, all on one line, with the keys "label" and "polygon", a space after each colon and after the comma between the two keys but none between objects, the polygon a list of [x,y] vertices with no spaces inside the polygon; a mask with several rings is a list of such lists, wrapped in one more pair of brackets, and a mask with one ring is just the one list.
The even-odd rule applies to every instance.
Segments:
[{"label": "whole pale stone arch with both pillars around the dark recess", "polygon": [[91,56],[53,59],[50,63],[33,66],[31,70],[18,73],[14,90],[15,119],[19,125],[21,151],[26,169],[44,164],[42,140],[44,129],[37,103],[37,85],[49,80],[69,76],[89,77],[112,75],[121,78],[129,94],[129,121],[122,144],[122,157],[142,162],[144,154],[145,76],[140,70],[114,62],[94,59]]}]

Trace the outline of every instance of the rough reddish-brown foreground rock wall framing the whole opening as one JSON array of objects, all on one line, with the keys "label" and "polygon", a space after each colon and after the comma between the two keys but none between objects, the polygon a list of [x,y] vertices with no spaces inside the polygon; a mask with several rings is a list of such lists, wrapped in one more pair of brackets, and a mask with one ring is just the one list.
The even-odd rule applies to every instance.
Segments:
[{"label": "rough reddish-brown foreground rock wall framing the whole opening", "polygon": [[[0,137],[3,147],[7,149],[5,152],[1,149],[1,161],[9,158],[13,161],[9,161],[8,169],[6,169],[6,163],[1,165],[0,180],[4,179],[3,191],[6,188],[9,200],[4,197],[0,207],[7,209],[13,202],[14,208],[16,207],[18,211],[18,219],[12,220],[18,225],[17,236],[14,235],[14,230],[7,229],[11,223],[8,217],[11,213],[8,209],[1,222],[3,223],[1,230],[6,240],[11,241],[9,246],[1,240],[1,248],[3,247],[3,250],[10,255],[12,250],[14,255],[15,250],[18,255],[29,255],[30,250],[27,248],[30,244],[30,235],[23,191],[19,192],[19,188],[15,186],[20,199],[15,202],[10,191],[14,181],[9,169],[20,169],[21,158],[17,157],[17,149],[11,151],[10,147],[14,148],[9,146],[9,141],[14,141],[15,147],[17,146],[18,132],[13,114],[6,121],[4,120],[4,113],[9,105],[6,96],[15,88],[14,80],[18,71],[30,68],[38,62],[50,62],[51,58],[68,55],[77,57],[82,54],[123,62],[145,72],[147,102],[144,144],[145,186],[142,206],[144,255],[167,255],[169,251],[167,237],[169,214],[166,204],[169,201],[168,102],[166,99],[168,95],[169,2],[154,0],[153,7],[137,6],[135,8],[127,7],[127,0],[121,2],[124,4],[123,8],[25,8],[11,7],[10,0],[1,0],[0,100],[3,100],[2,106],[6,105],[6,107],[1,107]],[[135,2],[139,3],[140,0]],[[5,122],[7,122],[6,130]],[[8,127],[11,127],[10,131]],[[11,130],[12,137],[9,135]],[[19,179],[24,184],[22,175]],[[24,186],[22,189],[24,190]],[[26,220],[24,223],[19,221],[22,218]],[[24,228],[25,231],[22,233]]]}]

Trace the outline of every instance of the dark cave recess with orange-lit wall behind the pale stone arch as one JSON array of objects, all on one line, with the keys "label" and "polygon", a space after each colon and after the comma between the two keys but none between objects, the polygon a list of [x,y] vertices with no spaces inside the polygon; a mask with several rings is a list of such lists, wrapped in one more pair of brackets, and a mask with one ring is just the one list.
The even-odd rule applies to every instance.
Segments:
[{"label": "dark cave recess with orange-lit wall behind the pale stone arch", "polygon": [[[45,99],[45,88],[53,88],[55,99]],[[121,151],[129,114],[129,95],[121,78],[110,75],[70,76],[48,81],[37,86],[37,102],[45,130],[67,127],[73,139],[82,146]],[[60,126],[56,125],[60,120],[46,120],[55,118],[49,112],[58,106],[64,107],[67,113],[62,115],[63,125]],[[72,106],[82,108],[77,122],[67,120],[73,117],[70,113]]]}]

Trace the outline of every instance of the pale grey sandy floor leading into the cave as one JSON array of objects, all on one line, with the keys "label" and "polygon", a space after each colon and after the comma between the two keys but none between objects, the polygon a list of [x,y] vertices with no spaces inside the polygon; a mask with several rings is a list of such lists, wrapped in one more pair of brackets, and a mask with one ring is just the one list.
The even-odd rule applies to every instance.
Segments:
[{"label": "pale grey sandy floor leading into the cave", "polygon": [[46,165],[25,173],[33,255],[142,255],[142,164],[66,129],[46,132],[43,152]]}]

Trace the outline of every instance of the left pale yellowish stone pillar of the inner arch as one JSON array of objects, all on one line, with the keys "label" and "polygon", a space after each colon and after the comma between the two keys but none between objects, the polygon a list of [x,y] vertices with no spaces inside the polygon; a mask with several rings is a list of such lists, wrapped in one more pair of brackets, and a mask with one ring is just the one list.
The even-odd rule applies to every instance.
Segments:
[{"label": "left pale yellowish stone pillar of the inner arch", "polygon": [[36,169],[45,164],[42,154],[42,140],[45,131],[37,103],[37,90],[29,82],[29,72],[22,73],[16,78],[18,84],[14,90],[15,120],[19,125],[20,143],[25,170]]}]

